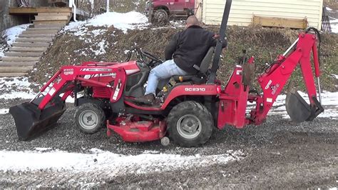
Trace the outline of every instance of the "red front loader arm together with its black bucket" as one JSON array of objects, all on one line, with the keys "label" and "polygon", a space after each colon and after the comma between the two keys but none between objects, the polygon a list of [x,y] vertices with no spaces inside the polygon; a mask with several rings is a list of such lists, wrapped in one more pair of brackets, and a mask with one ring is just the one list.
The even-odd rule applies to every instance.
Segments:
[{"label": "red front loader arm together with its black bucket", "polygon": [[[101,80],[102,79],[102,80]],[[31,101],[12,106],[9,112],[14,117],[19,139],[29,140],[56,124],[66,111],[65,100],[76,95],[76,84],[103,86],[111,92],[110,101],[121,98],[126,84],[123,67],[62,66],[49,79],[40,93]],[[63,96],[60,96],[63,93]]]}]

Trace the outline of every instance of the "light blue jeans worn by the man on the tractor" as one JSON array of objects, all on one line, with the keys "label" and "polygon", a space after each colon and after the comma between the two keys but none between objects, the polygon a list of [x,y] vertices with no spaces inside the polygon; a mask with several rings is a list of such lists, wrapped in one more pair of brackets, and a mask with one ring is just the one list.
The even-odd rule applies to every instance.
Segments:
[{"label": "light blue jeans worn by the man on the tractor", "polygon": [[145,95],[151,93],[156,96],[156,88],[158,86],[163,88],[163,86],[169,82],[171,76],[185,76],[187,74],[187,72],[183,71],[175,64],[173,59],[165,61],[163,64],[160,64],[159,66],[156,66],[154,69],[150,70],[147,88],[145,88]]}]

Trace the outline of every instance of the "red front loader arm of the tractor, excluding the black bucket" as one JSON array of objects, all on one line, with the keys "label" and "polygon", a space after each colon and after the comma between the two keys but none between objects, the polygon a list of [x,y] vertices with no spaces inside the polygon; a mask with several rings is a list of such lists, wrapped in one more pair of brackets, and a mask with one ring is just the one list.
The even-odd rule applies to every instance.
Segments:
[{"label": "red front loader arm of the tractor, excluding the black bucket", "polygon": [[[95,77],[109,77],[109,82],[101,82],[93,80]],[[40,93],[36,96],[39,97],[51,84],[46,95],[44,95],[39,109],[43,109],[54,96],[64,93],[62,100],[66,100],[67,96],[73,93],[75,81],[82,81],[96,86],[105,86],[111,89],[114,95],[111,101],[117,101],[122,94],[124,84],[126,82],[126,71],[122,67],[110,68],[107,66],[62,66],[61,69],[49,79],[43,86]],[[33,101],[33,100],[32,100]]]}]

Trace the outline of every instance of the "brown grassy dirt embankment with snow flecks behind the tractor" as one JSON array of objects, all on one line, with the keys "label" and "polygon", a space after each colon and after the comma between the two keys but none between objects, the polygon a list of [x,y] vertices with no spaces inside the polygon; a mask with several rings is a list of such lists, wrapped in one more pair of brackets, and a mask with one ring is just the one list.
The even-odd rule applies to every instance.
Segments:
[{"label": "brown grassy dirt embankment with snow flecks behind the tractor", "polygon": [[[211,31],[218,31],[217,26],[207,26]],[[82,36],[73,32],[63,32],[56,37],[41,62],[36,66],[36,71],[31,74],[31,81],[42,84],[47,81],[62,65],[78,65],[83,61],[123,61],[126,59],[125,51],[138,46],[155,56],[163,58],[165,45],[171,36],[183,27],[135,29],[124,34],[122,31],[109,28],[89,27]],[[282,54],[295,39],[299,31],[291,29],[262,29],[261,27],[232,26],[227,31],[228,47],[223,52],[219,79],[226,81],[237,57],[242,49],[247,49],[247,54],[255,56],[256,75],[261,74],[271,64],[277,54]],[[322,34],[321,67],[322,89],[327,91],[338,90],[338,80],[332,74],[338,74],[338,35]],[[302,81],[299,69],[292,75],[295,81]],[[257,84],[254,85],[257,88]],[[301,89],[304,84],[299,83]],[[260,89],[260,88],[257,88]]]}]

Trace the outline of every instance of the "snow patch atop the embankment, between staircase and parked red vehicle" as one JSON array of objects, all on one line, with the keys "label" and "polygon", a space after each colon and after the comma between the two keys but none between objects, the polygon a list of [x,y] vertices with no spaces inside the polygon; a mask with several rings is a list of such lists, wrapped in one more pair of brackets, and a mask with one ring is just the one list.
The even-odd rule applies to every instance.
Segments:
[{"label": "snow patch atop the embankment, between staircase and parked red vehicle", "polygon": [[88,21],[72,22],[65,26],[65,31],[75,31],[74,35],[83,36],[86,34],[86,26],[114,26],[116,29],[121,29],[124,33],[128,29],[135,29],[137,26],[148,25],[148,18],[144,14],[136,11],[128,13],[106,12],[95,16]]}]

